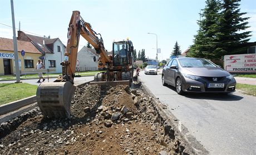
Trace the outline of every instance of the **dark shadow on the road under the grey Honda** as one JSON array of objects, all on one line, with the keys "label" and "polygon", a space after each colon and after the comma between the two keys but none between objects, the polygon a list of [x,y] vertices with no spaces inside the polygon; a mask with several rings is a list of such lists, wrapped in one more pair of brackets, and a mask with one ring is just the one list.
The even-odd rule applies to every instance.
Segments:
[{"label": "dark shadow on the road under the grey Honda", "polygon": [[[176,92],[175,87],[168,85],[169,89]],[[235,94],[221,94],[221,93],[185,93],[183,96],[190,99],[206,99],[206,100],[219,100],[219,101],[239,101],[244,97]]]}]

